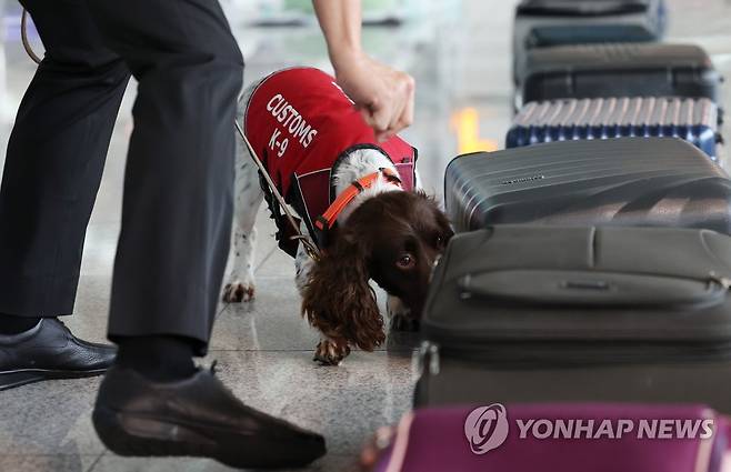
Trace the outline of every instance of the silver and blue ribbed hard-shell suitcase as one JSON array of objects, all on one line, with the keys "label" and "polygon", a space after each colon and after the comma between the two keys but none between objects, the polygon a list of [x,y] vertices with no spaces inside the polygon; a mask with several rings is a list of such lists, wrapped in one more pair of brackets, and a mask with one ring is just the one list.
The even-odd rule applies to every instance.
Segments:
[{"label": "silver and blue ribbed hard-shell suitcase", "polygon": [[674,97],[531,102],[513,120],[505,147],[627,137],[684,139],[717,160],[718,107],[709,99]]}]

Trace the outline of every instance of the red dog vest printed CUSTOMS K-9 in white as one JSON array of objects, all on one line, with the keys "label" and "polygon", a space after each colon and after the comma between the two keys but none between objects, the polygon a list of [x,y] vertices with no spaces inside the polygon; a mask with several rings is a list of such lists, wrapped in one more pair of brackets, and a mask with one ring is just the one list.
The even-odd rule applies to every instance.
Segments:
[{"label": "red dog vest printed CUSTOMS K-9 in white", "polygon": [[402,187],[413,188],[415,149],[399,137],[379,143],[336,79],[319,69],[292,68],[266,78],[247,103],[244,125],[278,190],[309,219],[311,233],[312,222],[337,197],[333,167],[357,148],[381,151]]}]

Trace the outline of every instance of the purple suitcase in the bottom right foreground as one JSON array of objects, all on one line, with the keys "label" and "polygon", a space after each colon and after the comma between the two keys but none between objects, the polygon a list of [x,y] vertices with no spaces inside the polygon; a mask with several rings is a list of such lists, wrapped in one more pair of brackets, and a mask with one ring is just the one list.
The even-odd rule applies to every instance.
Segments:
[{"label": "purple suitcase in the bottom right foreground", "polygon": [[719,472],[727,428],[700,405],[423,409],[403,416],[374,472]]}]

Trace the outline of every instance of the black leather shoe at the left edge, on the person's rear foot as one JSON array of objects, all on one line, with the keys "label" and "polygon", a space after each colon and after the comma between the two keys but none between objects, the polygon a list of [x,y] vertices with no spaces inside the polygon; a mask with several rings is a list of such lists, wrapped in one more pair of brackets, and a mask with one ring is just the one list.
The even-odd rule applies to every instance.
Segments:
[{"label": "black leather shoe at the left edge, on the person's rear foot", "polygon": [[43,318],[20,334],[0,335],[0,390],[48,379],[73,379],[104,373],[117,348],[74,337],[56,318]]}]

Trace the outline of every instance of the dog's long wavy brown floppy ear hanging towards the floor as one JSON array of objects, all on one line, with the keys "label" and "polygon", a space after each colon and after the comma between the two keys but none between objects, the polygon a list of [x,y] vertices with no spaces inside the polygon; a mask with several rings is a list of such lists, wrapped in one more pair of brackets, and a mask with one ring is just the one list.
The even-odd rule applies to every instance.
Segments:
[{"label": "dog's long wavy brown floppy ear hanging towards the floor", "polygon": [[310,272],[302,315],[326,337],[372,351],[385,334],[369,279],[363,242],[354,234],[338,234],[333,247]]}]

